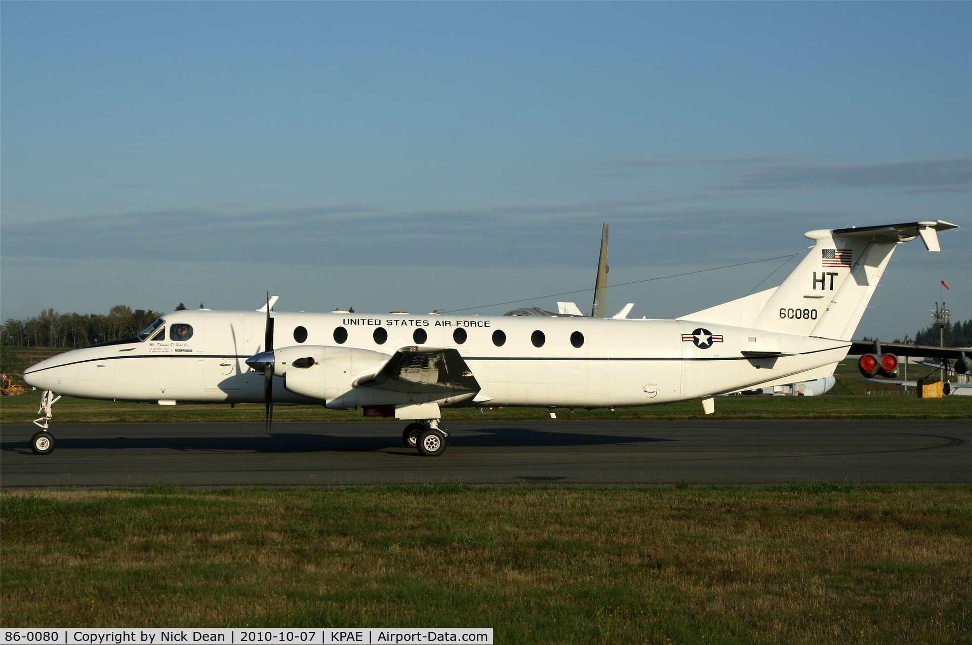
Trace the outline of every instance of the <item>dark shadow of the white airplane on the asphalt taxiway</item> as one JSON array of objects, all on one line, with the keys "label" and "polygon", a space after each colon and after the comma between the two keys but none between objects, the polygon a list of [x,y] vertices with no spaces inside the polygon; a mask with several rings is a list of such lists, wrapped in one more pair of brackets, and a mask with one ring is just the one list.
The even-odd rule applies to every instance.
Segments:
[{"label": "dark shadow of the white airplane on the asphalt taxiway", "polygon": [[[418,451],[405,448],[400,438],[383,436],[340,436],[306,432],[274,433],[270,436],[218,437],[57,437],[56,446],[62,450],[146,450],[175,451],[244,451],[254,453],[363,453],[400,448],[401,455],[415,455]],[[659,437],[617,436],[583,432],[550,432],[526,428],[476,428],[475,433],[453,435],[453,448],[550,448],[570,446],[608,446],[674,441]],[[5,441],[0,450],[29,453],[24,441]]]}]

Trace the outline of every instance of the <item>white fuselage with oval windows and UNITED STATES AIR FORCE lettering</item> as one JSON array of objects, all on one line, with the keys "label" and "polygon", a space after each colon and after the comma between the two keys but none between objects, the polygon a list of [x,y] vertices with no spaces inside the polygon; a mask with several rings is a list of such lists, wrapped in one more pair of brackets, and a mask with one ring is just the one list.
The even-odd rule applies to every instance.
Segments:
[{"label": "white fuselage with oval windows and UNITED STATES AIR FORCE lettering", "polygon": [[[313,395],[306,388],[289,389],[287,375],[274,376],[274,402],[334,408],[433,401],[538,407],[667,403],[784,377],[816,378],[816,368],[837,363],[850,346],[846,341],[681,320],[302,312],[272,316],[278,354],[328,361],[326,382]],[[245,361],[263,350],[265,313],[179,311],[163,320],[164,335],[158,340],[66,352],[32,366],[24,380],[38,389],[84,398],[264,401],[263,375]],[[178,334],[173,335],[173,325],[189,325],[191,336],[174,340]],[[152,337],[157,335],[154,331]],[[407,346],[455,349],[480,390],[474,396],[434,398],[355,385]]]}]

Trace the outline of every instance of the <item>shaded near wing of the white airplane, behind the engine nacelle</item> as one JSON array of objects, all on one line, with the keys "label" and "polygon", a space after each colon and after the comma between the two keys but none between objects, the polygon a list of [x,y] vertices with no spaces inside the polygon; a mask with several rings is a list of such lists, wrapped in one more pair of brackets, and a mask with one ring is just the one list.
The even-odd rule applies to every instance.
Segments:
[{"label": "shaded near wing of the white airplane, behind the engine nacelle", "polygon": [[355,385],[376,390],[444,394],[480,390],[458,351],[415,345],[400,348],[376,374],[359,378]]}]

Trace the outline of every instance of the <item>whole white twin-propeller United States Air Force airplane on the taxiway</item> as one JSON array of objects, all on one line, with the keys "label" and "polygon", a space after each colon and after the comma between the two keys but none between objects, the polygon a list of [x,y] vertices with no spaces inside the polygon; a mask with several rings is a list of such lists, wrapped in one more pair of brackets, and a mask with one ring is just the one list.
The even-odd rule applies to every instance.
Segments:
[{"label": "whole white twin-propeller United States Air Force airplane on the taxiway", "polygon": [[816,242],[780,287],[683,316],[413,316],[185,310],[138,336],[52,356],[24,371],[44,390],[32,450],[50,454],[60,394],[127,401],[264,403],[396,417],[406,445],[441,455],[445,406],[603,408],[825,378],[897,244],[939,251],[947,221],[805,233]]}]

